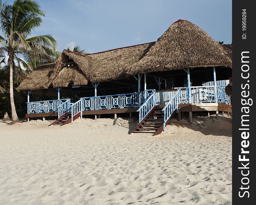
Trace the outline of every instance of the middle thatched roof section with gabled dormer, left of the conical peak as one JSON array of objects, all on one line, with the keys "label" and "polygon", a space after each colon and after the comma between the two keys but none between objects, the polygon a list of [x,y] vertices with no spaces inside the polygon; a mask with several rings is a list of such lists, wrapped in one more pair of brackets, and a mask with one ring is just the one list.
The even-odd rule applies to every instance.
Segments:
[{"label": "middle thatched roof section with gabled dormer, left of the conical peak", "polygon": [[[53,86],[65,87],[72,82],[75,85],[85,85],[88,81],[95,83],[127,78],[128,68],[148,52],[154,43],[127,46],[88,55],[64,50],[51,77]],[[68,69],[69,72],[65,69],[66,64],[71,61],[77,65],[72,74],[71,69]]]}]

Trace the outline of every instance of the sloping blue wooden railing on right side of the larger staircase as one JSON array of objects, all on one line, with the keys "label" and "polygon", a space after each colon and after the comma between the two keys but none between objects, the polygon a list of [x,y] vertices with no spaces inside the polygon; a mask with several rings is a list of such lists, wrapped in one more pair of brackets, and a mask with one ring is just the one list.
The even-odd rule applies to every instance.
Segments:
[{"label": "sloping blue wooden railing on right side of the larger staircase", "polygon": [[178,89],[175,94],[171,97],[165,107],[162,109],[164,111],[164,132],[165,132],[165,124],[167,120],[171,117],[172,113],[177,110],[180,101],[180,93],[181,89]]}]

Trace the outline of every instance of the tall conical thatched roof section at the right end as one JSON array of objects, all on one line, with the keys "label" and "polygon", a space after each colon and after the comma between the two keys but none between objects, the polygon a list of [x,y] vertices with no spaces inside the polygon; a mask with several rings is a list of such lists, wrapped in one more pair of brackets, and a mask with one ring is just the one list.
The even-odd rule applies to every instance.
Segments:
[{"label": "tall conical thatched roof section at the right end", "polygon": [[201,28],[187,20],[178,20],[131,66],[128,74],[216,66],[232,66],[223,47]]}]

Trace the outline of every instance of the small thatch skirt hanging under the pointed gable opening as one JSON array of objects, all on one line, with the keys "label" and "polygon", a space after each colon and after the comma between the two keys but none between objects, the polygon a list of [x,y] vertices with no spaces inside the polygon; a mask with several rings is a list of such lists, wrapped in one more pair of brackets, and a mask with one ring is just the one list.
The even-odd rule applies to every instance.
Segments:
[{"label": "small thatch skirt hanging under the pointed gable opening", "polygon": [[53,87],[67,87],[69,83],[74,85],[86,85],[88,80],[85,74],[75,65],[74,67],[64,67],[54,78]]}]

